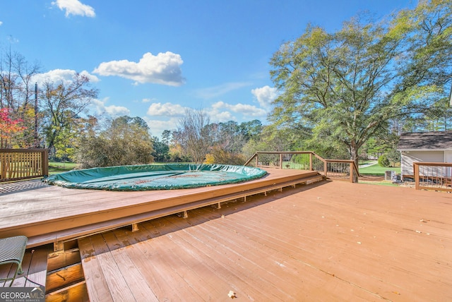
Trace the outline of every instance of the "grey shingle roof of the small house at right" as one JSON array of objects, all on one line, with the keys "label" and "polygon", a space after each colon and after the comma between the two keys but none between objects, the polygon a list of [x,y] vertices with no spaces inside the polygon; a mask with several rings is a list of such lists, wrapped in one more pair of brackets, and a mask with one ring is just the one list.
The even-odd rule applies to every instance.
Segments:
[{"label": "grey shingle roof of the small house at right", "polygon": [[402,133],[397,150],[452,150],[452,131]]}]

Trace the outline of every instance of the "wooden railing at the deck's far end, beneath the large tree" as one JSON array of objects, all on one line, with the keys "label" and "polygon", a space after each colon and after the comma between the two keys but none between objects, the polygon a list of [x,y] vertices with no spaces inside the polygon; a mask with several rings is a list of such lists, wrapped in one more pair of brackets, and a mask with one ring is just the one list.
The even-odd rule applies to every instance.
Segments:
[{"label": "wooden railing at the deck's far end, beneath the large tree", "polygon": [[357,182],[359,171],[354,161],[323,159],[312,151],[256,152],[244,164],[261,168],[319,171],[328,179]]}]

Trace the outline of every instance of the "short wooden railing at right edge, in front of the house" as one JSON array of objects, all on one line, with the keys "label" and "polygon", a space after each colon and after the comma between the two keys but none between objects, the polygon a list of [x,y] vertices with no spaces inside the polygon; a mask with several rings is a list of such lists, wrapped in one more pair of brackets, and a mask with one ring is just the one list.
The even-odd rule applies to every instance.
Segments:
[{"label": "short wooden railing at right edge, in front of the house", "polygon": [[452,192],[452,163],[413,162],[416,190]]}]

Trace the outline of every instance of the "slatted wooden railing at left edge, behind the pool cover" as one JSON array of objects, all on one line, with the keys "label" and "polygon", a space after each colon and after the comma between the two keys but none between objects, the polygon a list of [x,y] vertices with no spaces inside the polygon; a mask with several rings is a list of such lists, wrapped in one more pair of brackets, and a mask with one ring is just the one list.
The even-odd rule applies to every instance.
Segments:
[{"label": "slatted wooden railing at left edge, behind the pool cover", "polygon": [[0,149],[0,182],[48,175],[47,149]]}]

